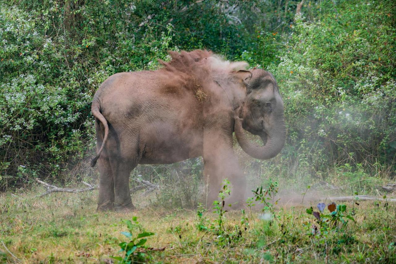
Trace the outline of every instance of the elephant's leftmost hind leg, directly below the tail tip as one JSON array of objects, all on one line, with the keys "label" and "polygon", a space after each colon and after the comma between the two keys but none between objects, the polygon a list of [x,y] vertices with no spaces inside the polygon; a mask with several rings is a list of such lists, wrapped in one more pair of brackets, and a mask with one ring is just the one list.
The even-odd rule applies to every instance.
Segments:
[{"label": "elephant's leftmost hind leg, directly below the tail tip", "polygon": [[98,211],[113,210],[114,203],[114,179],[109,158],[102,152],[97,161],[100,173]]}]

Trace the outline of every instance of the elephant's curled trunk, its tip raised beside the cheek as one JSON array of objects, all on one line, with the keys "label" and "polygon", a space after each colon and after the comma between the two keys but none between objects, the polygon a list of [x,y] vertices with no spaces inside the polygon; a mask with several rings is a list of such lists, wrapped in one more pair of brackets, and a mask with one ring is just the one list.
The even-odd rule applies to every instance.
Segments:
[{"label": "elephant's curled trunk, its tip raised beside the cheek", "polygon": [[240,118],[235,119],[234,131],[238,144],[244,152],[259,160],[274,158],[285,144],[286,127],[283,120],[278,123],[276,127],[271,128],[267,133],[263,131],[260,135],[264,146],[257,146],[246,137],[244,129],[242,128],[242,119]]}]

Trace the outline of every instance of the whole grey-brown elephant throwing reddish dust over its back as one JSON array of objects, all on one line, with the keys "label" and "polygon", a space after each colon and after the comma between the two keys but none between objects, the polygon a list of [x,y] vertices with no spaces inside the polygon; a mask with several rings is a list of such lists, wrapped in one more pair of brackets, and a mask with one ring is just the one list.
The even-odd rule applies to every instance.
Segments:
[{"label": "whole grey-brown elephant throwing reddish dust over its back", "polygon": [[[274,76],[246,70],[208,50],[169,51],[154,71],[120,72],[96,91],[97,210],[135,209],[129,175],[138,164],[170,164],[202,156],[207,205],[232,184],[231,201],[242,201],[246,177],[233,150],[232,135],[249,156],[276,156],[286,138],[284,104]],[[244,131],[259,135],[263,146]]]}]

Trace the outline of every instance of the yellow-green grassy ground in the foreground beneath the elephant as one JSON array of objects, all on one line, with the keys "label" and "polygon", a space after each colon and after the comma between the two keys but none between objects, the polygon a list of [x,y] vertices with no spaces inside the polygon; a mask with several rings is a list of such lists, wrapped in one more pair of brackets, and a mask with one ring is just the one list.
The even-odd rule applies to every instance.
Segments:
[{"label": "yellow-green grassy ground in the foreground beneath the elephant", "polygon": [[[225,213],[223,238],[216,234],[218,215],[198,209],[167,211],[140,206],[132,213],[96,212],[97,191],[55,193],[42,198],[38,186],[29,192],[0,196],[0,260],[22,263],[116,262],[119,243],[129,241],[122,222],[138,217],[141,230],[154,232],[146,245],[164,251],[145,250],[148,262],[258,263],[258,262],[396,262],[396,207],[393,203],[346,202],[351,220],[339,230],[312,235],[318,226],[306,213],[310,205],[284,204],[275,208],[274,221],[259,220],[259,209]],[[149,198],[141,198],[147,200]],[[142,204],[142,201],[137,201]],[[308,202],[309,203],[309,202]],[[359,205],[358,205],[359,204]],[[316,203],[312,203],[315,207]],[[326,209],[327,210],[327,209]],[[201,231],[197,226],[201,226]],[[240,229],[235,229],[239,226]],[[204,228],[202,228],[204,227]],[[207,228],[208,231],[202,230]],[[245,230],[246,228],[246,230]],[[219,228],[217,228],[219,230]],[[237,232],[235,232],[237,230]],[[240,230],[241,232],[237,234]],[[136,230],[138,233],[138,231]],[[137,234],[136,233],[136,234]],[[232,236],[232,234],[237,234]],[[12,253],[14,256],[12,256]]]}]

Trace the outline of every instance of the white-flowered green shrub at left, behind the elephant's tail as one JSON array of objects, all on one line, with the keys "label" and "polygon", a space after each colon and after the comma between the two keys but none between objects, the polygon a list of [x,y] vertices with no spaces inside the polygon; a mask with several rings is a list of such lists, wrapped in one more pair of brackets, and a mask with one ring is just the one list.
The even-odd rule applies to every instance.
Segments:
[{"label": "white-flowered green shrub at left, behind the elephant's tail", "polygon": [[64,47],[43,34],[37,27],[42,23],[39,12],[0,6],[1,186],[40,173],[56,175],[92,146],[92,86],[66,71],[73,65],[65,65]]}]

